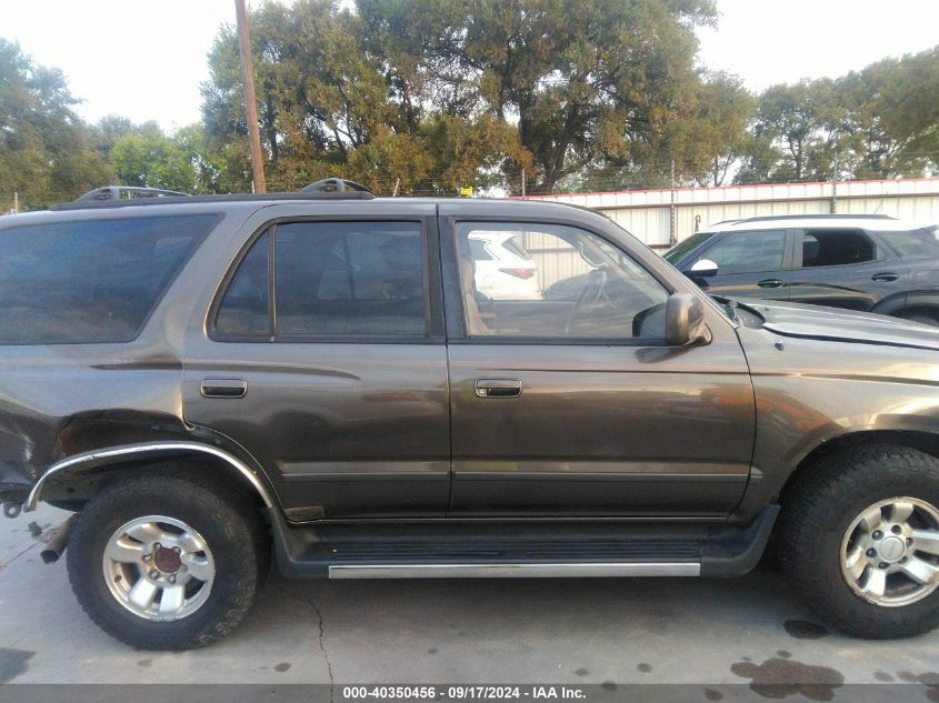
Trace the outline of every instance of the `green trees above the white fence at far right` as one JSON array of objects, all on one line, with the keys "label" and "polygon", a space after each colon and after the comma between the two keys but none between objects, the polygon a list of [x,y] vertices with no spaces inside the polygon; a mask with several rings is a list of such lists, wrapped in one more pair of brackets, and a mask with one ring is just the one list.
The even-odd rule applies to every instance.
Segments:
[{"label": "green trees above the white fence at far right", "polygon": [[838,80],[773,86],[738,182],[921,177],[939,164],[939,47]]}]

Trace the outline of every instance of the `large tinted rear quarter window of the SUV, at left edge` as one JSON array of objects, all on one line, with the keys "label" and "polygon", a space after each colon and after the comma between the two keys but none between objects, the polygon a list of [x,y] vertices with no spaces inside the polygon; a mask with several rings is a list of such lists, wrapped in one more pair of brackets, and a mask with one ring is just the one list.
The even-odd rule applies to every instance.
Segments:
[{"label": "large tinted rear quarter window of the SUV, at left edge", "polygon": [[0,342],[134,338],[216,220],[90,220],[0,231]]}]

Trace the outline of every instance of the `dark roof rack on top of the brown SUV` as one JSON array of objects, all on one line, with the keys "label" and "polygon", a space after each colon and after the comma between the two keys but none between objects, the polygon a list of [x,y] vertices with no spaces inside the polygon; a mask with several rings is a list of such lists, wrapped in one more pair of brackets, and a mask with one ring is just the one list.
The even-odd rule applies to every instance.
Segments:
[{"label": "dark roof rack on top of the brown SUV", "polygon": [[253,200],[372,200],[377,195],[364,185],[341,178],[327,178],[296,193],[236,193],[231,195],[189,195],[160,188],[106,185],[88,191],[73,202],[52,205],[50,210],[84,210],[171,203],[238,202]]}]

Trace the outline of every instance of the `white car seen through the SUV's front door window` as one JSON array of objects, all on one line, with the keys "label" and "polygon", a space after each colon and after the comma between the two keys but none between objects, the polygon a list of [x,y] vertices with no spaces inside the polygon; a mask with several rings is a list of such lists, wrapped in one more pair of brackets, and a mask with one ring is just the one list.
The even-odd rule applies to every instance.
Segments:
[{"label": "white car seen through the SUV's front door window", "polygon": [[491,300],[541,300],[538,269],[519,232],[470,232],[476,290]]}]

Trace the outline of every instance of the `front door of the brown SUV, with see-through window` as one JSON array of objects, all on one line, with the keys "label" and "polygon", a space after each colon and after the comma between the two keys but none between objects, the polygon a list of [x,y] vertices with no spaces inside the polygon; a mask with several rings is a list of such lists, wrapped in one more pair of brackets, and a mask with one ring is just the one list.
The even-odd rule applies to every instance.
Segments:
[{"label": "front door of the brown SUV, with see-through window", "polygon": [[[457,212],[441,225],[444,251],[454,250],[444,275],[458,279],[446,289],[450,513],[731,511],[749,474],[755,408],[730,322],[708,307],[710,344],[666,347],[671,291],[609,232]],[[480,290],[471,243],[508,233],[533,262],[537,295]]]}]

